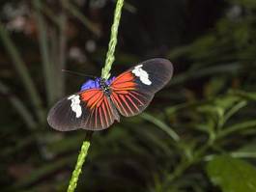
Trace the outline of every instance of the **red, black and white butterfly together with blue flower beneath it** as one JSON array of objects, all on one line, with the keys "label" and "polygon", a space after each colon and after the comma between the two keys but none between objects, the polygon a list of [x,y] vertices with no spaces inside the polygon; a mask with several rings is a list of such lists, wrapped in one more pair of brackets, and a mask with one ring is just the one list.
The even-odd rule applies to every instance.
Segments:
[{"label": "red, black and white butterfly together with blue flower beneath it", "polygon": [[50,109],[47,122],[60,131],[108,128],[120,122],[120,115],[130,117],[144,111],[172,74],[171,62],[156,58],[117,77],[89,79],[78,93],[64,97]]}]

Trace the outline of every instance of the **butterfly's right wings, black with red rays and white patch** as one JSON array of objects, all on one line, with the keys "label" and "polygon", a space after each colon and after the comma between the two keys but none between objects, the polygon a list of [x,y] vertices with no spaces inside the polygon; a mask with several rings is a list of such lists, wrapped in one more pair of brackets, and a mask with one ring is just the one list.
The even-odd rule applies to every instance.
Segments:
[{"label": "butterfly's right wings, black with red rays and white patch", "polygon": [[171,79],[173,66],[166,59],[151,59],[128,69],[110,84],[111,100],[126,117],[141,113],[156,92]]}]

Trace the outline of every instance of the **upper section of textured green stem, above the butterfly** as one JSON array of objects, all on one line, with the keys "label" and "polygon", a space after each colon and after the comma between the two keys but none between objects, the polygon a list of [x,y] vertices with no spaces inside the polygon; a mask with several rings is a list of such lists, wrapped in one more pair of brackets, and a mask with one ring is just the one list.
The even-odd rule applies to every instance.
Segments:
[{"label": "upper section of textured green stem, above the butterfly", "polygon": [[117,44],[118,26],[119,26],[119,21],[121,18],[121,13],[122,13],[121,11],[122,11],[123,5],[124,5],[124,0],[117,1],[115,15],[114,15],[114,22],[111,27],[110,41],[108,43],[108,51],[106,53],[105,66],[101,71],[101,77],[104,79],[109,78],[110,69],[115,60],[114,52],[115,52],[115,48],[116,48],[116,44]]}]

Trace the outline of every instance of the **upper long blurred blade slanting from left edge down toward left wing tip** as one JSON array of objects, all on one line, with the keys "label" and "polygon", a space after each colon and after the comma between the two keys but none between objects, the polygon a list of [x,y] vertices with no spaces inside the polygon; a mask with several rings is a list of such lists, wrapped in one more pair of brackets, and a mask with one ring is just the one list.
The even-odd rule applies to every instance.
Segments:
[{"label": "upper long blurred blade slanting from left edge down toward left wing tip", "polygon": [[45,122],[41,97],[39,96],[36,90],[36,87],[29,74],[29,71],[26,69],[25,67],[26,65],[22,61],[21,56],[16,46],[14,45],[14,42],[12,41],[8,31],[5,29],[4,24],[1,22],[0,22],[0,38],[2,39],[3,44],[5,45],[8,53],[10,54],[11,59],[13,60],[14,68],[16,69],[16,72],[20,76],[24,89],[26,90],[29,96],[29,99],[33,104],[34,111],[37,115],[38,120],[41,123]]}]

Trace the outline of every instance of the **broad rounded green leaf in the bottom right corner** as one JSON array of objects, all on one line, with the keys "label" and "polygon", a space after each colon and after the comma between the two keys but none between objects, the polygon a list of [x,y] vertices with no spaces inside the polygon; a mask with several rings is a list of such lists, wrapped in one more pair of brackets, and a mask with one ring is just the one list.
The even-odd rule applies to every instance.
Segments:
[{"label": "broad rounded green leaf in the bottom right corner", "polygon": [[243,160],[215,156],[207,165],[207,173],[223,192],[256,191],[256,169]]}]

